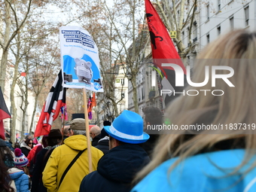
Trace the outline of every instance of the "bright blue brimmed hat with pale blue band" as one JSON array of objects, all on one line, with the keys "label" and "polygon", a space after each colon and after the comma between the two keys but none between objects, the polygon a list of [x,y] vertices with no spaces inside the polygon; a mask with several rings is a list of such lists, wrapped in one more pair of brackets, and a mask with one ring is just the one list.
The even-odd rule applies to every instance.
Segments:
[{"label": "bright blue brimmed hat with pale blue band", "polygon": [[111,126],[104,126],[104,129],[120,142],[138,144],[149,139],[148,134],[143,132],[142,117],[133,111],[123,110]]}]

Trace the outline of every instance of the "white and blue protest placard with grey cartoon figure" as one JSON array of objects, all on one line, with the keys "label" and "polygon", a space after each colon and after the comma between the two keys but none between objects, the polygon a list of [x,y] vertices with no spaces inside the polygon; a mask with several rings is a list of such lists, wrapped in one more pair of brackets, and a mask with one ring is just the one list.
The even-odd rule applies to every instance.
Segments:
[{"label": "white and blue protest placard with grey cartoon figure", "polygon": [[59,29],[64,87],[103,92],[98,48],[89,32],[78,26]]}]

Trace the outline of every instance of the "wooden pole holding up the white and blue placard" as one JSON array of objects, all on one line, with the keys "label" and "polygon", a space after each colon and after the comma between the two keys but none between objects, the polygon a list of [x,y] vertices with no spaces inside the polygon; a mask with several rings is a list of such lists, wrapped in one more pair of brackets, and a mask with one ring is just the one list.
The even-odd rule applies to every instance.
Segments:
[{"label": "wooden pole holding up the white and blue placard", "polygon": [[88,154],[89,172],[93,172],[92,153],[90,151],[90,130],[89,130],[89,119],[88,119],[88,111],[87,111],[87,93],[85,88],[83,88],[83,95],[84,95],[84,118],[85,118],[85,130],[87,134],[87,154]]}]

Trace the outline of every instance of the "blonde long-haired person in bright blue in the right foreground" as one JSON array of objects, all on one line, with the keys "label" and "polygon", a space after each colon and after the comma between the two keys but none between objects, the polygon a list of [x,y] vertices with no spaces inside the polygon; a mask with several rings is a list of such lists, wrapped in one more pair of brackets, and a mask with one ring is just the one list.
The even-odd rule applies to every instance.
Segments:
[{"label": "blonde long-haired person in bright blue in the right foreground", "polygon": [[[188,85],[184,91],[222,90],[221,96],[184,94],[169,105],[166,117],[177,130],[160,136],[153,159],[136,176],[139,183],[132,192],[256,191],[255,59],[256,32],[243,29],[221,36],[200,53],[192,82],[206,79],[206,66],[230,67],[234,74],[225,81],[217,79],[215,87],[209,81],[203,87]],[[230,74],[218,69],[218,75]],[[184,125],[219,129],[181,129]]]}]

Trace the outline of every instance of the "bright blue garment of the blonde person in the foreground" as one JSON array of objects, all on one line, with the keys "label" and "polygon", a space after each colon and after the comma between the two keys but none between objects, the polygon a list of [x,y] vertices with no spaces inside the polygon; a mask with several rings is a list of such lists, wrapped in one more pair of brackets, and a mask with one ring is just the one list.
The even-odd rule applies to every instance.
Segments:
[{"label": "bright blue garment of the blonde person in the foreground", "polygon": [[[252,192],[256,191],[256,168],[247,170],[255,163],[255,156],[236,174],[234,168],[242,163],[245,150],[216,151],[189,157],[172,172],[170,166],[177,158],[166,160],[142,181],[132,192],[175,191],[175,192]],[[254,166],[255,167],[255,166]]]}]

